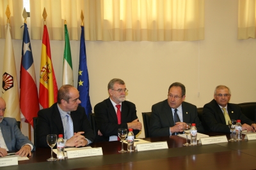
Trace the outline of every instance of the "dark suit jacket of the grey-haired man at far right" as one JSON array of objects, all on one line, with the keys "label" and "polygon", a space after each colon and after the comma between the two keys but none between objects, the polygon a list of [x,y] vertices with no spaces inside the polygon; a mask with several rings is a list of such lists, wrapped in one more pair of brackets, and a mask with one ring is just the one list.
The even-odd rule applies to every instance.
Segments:
[{"label": "dark suit jacket of the grey-haired man at far right", "polygon": [[[255,124],[252,120],[247,118],[241,111],[238,104],[227,104],[227,111],[230,120],[241,120],[241,124],[252,125]],[[226,120],[218,103],[213,99],[210,103],[204,105],[202,124],[205,129],[209,132],[230,132],[228,125],[226,125]]]}]

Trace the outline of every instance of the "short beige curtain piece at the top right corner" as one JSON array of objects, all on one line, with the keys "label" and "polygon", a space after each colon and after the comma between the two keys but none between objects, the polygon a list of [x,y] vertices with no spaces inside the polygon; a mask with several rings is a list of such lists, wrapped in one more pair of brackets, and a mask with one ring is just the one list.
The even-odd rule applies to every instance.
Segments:
[{"label": "short beige curtain piece at the top right corner", "polygon": [[256,38],[255,0],[239,0],[238,39]]}]

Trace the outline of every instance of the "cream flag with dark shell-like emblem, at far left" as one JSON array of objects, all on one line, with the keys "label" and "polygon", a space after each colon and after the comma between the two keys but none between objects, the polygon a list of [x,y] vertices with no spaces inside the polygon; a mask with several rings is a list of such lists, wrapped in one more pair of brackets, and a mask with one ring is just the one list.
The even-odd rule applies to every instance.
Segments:
[{"label": "cream flag with dark shell-like emblem, at far left", "polygon": [[2,97],[6,103],[4,117],[12,117],[16,118],[17,121],[20,121],[19,87],[17,83],[17,73],[9,23],[6,24],[5,29],[6,39],[4,45],[2,85]]}]

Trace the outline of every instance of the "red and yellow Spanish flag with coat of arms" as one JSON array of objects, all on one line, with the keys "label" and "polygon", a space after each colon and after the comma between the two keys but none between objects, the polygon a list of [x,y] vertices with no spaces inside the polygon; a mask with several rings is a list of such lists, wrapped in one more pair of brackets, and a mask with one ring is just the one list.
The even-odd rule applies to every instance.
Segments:
[{"label": "red and yellow Spanish flag with coat of arms", "polygon": [[57,102],[57,94],[58,86],[52,67],[49,34],[46,25],[44,25],[40,65],[39,103],[43,108],[49,108],[52,104]]}]

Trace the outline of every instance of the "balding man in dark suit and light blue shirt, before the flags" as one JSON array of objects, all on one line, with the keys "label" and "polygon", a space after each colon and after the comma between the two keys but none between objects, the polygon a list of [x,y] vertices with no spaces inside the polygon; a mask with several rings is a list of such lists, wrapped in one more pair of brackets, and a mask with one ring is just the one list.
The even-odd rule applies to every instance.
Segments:
[{"label": "balding man in dark suit and light blue shirt, before the flags", "polygon": [[49,147],[46,141],[48,134],[63,134],[65,146],[79,147],[93,142],[94,134],[80,103],[78,90],[72,85],[63,85],[58,91],[58,103],[38,111],[38,147]]}]

